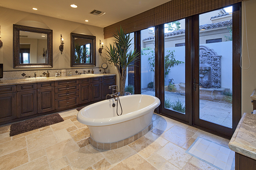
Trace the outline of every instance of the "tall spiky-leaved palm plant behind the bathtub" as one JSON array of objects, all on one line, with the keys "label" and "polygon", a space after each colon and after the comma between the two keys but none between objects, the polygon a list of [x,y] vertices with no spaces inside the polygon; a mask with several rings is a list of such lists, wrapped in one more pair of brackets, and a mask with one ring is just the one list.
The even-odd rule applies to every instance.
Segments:
[{"label": "tall spiky-leaved palm plant behind the bathtub", "polygon": [[107,46],[106,49],[108,56],[106,60],[114,63],[119,74],[120,95],[124,95],[127,67],[134,66],[139,56],[136,49],[133,52],[131,50],[132,39],[130,34],[126,34],[120,27],[120,31],[116,30],[114,35],[114,44],[110,44],[110,47]]}]

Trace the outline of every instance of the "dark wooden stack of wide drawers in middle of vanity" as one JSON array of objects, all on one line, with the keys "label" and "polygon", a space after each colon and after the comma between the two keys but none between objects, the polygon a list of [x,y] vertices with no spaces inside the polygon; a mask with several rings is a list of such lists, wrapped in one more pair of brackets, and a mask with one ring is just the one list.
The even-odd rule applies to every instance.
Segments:
[{"label": "dark wooden stack of wide drawers in middle of vanity", "polygon": [[79,80],[55,82],[55,109],[79,105]]}]

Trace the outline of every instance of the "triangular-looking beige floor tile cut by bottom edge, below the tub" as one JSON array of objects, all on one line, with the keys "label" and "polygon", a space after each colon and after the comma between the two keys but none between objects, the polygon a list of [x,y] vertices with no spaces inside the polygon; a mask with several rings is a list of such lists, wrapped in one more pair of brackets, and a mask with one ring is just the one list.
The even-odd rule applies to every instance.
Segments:
[{"label": "triangular-looking beige floor tile cut by bottom edge, below the tub", "polygon": [[[132,163],[131,163],[132,162]],[[111,170],[120,170],[120,169],[157,169],[148,163],[145,159],[140,157],[138,154],[130,156],[129,158],[123,160],[121,163],[117,164]]]}]

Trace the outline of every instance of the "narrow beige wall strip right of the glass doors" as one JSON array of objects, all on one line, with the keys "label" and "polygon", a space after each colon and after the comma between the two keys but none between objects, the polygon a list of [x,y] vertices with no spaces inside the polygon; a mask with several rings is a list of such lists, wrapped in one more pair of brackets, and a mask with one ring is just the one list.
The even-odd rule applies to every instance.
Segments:
[{"label": "narrow beige wall strip right of the glass doors", "polygon": [[[246,25],[247,25],[247,42],[246,43],[246,32],[245,32],[245,15],[244,8],[246,14]],[[253,89],[256,88],[256,22],[255,22],[255,9],[256,9],[256,1],[244,1],[242,3],[242,21],[244,26],[243,36],[243,48],[242,48],[242,66],[243,68],[247,68],[249,66],[248,55],[250,58],[250,67],[248,69],[242,70],[242,113],[251,112],[252,104],[250,95]],[[243,27],[242,26],[242,27]],[[248,45],[248,52],[247,52]]]}]

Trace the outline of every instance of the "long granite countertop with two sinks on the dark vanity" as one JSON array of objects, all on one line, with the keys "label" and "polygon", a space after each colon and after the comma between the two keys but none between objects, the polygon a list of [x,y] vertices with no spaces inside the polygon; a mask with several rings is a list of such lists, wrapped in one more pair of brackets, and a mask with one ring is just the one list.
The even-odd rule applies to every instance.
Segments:
[{"label": "long granite countertop with two sinks on the dark vanity", "polygon": [[[28,83],[40,83],[40,82],[51,82],[51,81],[61,81],[61,80],[73,80],[73,79],[86,79],[102,76],[116,76],[116,74],[94,74],[90,76],[60,76],[60,77],[48,77],[46,79],[40,80],[25,80],[25,79],[14,79],[14,80],[1,80],[0,86],[6,85],[16,85],[16,84],[28,84]],[[29,78],[28,78],[29,79]]]}]

